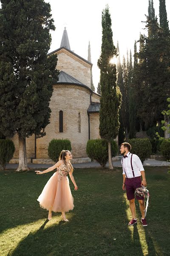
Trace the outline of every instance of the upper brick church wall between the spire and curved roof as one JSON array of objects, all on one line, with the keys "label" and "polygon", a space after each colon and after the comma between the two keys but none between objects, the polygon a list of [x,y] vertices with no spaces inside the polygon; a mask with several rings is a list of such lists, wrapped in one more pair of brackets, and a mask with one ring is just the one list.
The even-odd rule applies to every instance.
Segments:
[{"label": "upper brick church wall between the spire and curved roof", "polygon": [[82,61],[77,56],[65,49],[57,52],[57,69],[64,71],[70,76],[91,88],[91,65]]}]

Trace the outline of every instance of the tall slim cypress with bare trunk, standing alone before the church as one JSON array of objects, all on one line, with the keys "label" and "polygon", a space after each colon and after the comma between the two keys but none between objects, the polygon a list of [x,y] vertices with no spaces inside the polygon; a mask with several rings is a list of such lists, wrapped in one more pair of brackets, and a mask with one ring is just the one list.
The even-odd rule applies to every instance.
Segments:
[{"label": "tall slim cypress with bare trunk, standing alone before the church", "polygon": [[106,6],[102,11],[102,49],[98,60],[101,85],[99,131],[101,138],[108,140],[110,169],[113,169],[111,140],[115,139],[119,132],[119,107],[121,102],[121,93],[116,85],[116,65],[110,63],[114,55],[116,55],[116,48],[113,45],[111,15],[109,7]]}]

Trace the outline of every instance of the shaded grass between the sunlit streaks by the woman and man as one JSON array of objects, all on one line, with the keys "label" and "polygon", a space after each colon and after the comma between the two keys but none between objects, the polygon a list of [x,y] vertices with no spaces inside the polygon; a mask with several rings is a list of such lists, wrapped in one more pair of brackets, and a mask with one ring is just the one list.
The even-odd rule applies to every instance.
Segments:
[{"label": "shaded grass between the sunlit streaks by the woman and man", "polygon": [[[9,256],[124,256],[125,252],[130,256],[143,255],[139,235],[134,234],[134,243],[128,227],[119,176],[87,172],[84,175],[81,190],[73,192],[75,209],[71,219],[68,217],[70,221],[59,221],[49,227],[45,221],[21,240]],[[120,186],[114,186],[113,180]]]}]

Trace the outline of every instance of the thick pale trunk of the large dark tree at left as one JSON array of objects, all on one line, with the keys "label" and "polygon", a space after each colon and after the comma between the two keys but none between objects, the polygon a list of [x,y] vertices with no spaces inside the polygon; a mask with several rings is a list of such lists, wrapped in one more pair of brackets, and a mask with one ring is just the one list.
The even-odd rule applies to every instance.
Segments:
[{"label": "thick pale trunk of the large dark tree at left", "polygon": [[19,166],[17,172],[27,170],[26,138],[19,135]]}]

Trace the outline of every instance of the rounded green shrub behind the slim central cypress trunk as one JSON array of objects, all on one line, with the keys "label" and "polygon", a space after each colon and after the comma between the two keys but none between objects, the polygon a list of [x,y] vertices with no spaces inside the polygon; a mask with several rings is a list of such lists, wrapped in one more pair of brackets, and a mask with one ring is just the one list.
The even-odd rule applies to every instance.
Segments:
[{"label": "rounded green shrub behind the slim central cypress trunk", "polygon": [[[117,154],[117,144],[114,140],[111,142],[112,145],[112,157],[115,157]],[[88,140],[86,146],[86,153],[88,157],[96,160],[103,168],[108,162],[108,142],[107,140],[97,139],[97,140]]]}]

